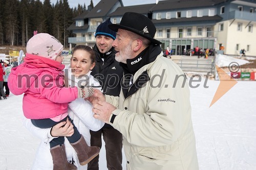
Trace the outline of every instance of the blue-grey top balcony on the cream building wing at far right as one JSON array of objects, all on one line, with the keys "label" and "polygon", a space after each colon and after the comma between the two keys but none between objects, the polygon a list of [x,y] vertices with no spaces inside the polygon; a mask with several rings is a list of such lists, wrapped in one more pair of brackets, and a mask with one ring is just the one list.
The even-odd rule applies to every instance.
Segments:
[{"label": "blue-grey top balcony on the cream building wing at far right", "polygon": [[256,21],[256,13],[245,11],[231,11],[228,13],[228,19],[243,19],[248,21]]}]

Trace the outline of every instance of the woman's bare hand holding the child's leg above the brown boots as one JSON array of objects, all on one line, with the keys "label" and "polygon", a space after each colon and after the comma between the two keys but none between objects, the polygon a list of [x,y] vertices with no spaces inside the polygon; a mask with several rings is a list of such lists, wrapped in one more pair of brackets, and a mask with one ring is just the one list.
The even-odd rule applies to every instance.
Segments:
[{"label": "woman's bare hand holding the child's leg above the brown boots", "polygon": [[57,125],[53,126],[51,129],[51,135],[53,137],[57,136],[72,136],[74,134],[74,126],[67,118],[66,122],[58,123]]}]

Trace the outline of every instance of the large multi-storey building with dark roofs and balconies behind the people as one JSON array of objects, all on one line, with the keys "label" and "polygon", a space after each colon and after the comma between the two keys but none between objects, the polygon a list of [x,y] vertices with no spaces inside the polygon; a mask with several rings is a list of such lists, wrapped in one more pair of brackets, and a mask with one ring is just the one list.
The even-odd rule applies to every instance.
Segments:
[{"label": "large multi-storey building with dark roofs and balconies behind the people", "polygon": [[[98,12],[103,9],[104,12]],[[163,50],[169,46],[175,55],[196,46],[203,50],[220,50],[224,46],[227,55],[239,55],[240,50],[245,49],[247,56],[256,56],[254,0],[168,0],[127,7],[121,0],[101,0],[86,15],[74,18],[75,26],[69,30],[76,37],[69,38],[69,43],[93,46],[93,33],[99,23],[106,19],[120,23],[125,12],[141,13],[152,19],[157,28],[155,38],[162,42]],[[72,41],[79,37],[80,42]]]}]

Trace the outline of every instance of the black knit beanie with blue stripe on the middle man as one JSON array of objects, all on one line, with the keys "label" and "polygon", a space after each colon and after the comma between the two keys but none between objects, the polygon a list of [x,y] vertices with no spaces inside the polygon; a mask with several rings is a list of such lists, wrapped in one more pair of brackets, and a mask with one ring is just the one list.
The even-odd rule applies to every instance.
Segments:
[{"label": "black knit beanie with blue stripe on the middle man", "polygon": [[95,37],[97,35],[105,35],[105,36],[109,36],[112,39],[116,39],[116,32],[111,30],[108,26],[112,24],[112,22],[108,19],[105,22],[101,23],[97,29],[96,29],[96,33],[95,33]]}]

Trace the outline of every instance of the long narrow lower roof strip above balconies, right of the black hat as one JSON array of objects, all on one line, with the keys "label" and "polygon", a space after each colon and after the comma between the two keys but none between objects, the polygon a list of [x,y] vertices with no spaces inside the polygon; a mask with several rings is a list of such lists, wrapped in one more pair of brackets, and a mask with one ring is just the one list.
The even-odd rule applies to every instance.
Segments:
[{"label": "long narrow lower roof strip above balconies, right of the black hat", "polygon": [[155,23],[170,23],[170,22],[193,22],[193,21],[219,21],[222,17],[219,15],[215,16],[202,16],[202,17],[191,17],[191,18],[170,18],[170,19],[152,19],[152,22]]}]

